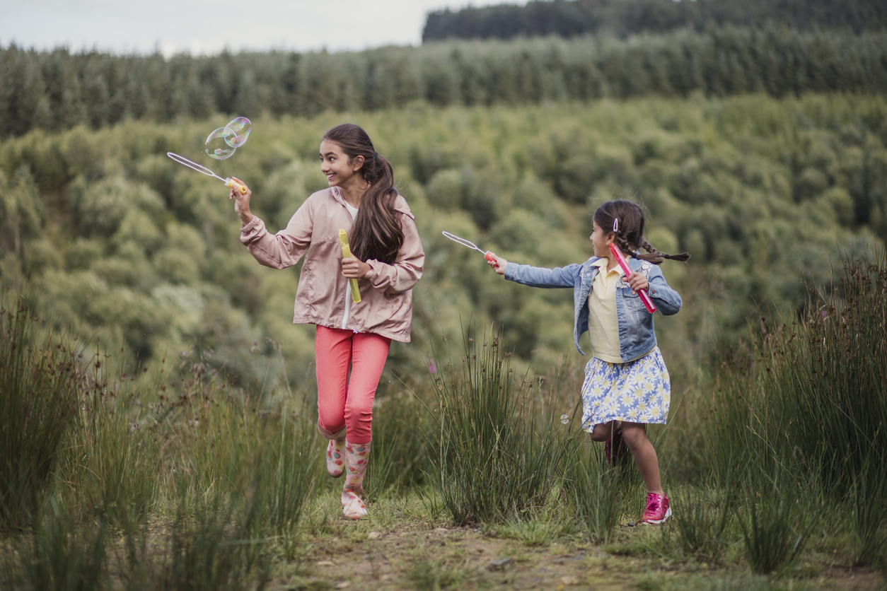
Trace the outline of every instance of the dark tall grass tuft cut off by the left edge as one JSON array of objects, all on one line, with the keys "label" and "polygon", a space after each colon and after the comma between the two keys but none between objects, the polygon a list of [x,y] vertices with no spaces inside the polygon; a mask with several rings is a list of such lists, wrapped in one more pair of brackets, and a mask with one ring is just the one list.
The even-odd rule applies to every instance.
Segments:
[{"label": "dark tall grass tuft cut off by the left edge", "polygon": [[0,305],[0,528],[35,518],[69,430],[77,423],[76,351],[49,333],[36,343],[27,301]]}]

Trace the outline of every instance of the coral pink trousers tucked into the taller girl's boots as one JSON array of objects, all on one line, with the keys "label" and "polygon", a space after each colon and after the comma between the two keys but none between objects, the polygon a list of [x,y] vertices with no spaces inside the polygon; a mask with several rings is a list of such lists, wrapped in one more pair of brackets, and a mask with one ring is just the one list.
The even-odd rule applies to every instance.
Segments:
[{"label": "coral pink trousers tucked into the taller girl's boots", "polygon": [[373,397],[390,345],[390,338],[377,334],[318,326],[318,418],[324,430],[346,427],[351,443],[373,439]]}]

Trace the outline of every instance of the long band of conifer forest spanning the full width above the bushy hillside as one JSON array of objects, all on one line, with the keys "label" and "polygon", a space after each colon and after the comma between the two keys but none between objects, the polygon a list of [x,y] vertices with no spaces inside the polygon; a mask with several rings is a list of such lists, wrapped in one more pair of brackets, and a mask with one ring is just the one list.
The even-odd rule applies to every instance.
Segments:
[{"label": "long band of conifer forest spanning the full width above the bushy hillside", "polygon": [[[574,3],[552,6],[561,4]],[[0,81],[0,138],[32,129],[98,129],[131,120],[168,123],[212,113],[312,117],[417,101],[538,105],[693,93],[884,93],[887,33],[731,26],[622,41],[548,37],[335,54],[272,51],[169,59],[26,51],[12,45],[0,48]]]}]

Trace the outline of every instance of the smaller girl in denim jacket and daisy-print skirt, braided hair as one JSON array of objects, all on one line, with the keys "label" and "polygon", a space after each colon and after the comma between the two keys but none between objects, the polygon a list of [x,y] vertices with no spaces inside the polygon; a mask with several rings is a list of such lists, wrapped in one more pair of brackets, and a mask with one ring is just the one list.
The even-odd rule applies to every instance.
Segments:
[{"label": "smaller girl in denim jacket and daisy-print skirt, braided hair", "polygon": [[[663,315],[677,314],[678,292],[665,283],[657,265],[664,259],[687,261],[688,253],[656,251],[643,237],[644,214],[631,201],[608,201],[594,212],[594,256],[562,268],[516,265],[493,255],[492,268],[507,280],[532,287],[572,287],[576,322],[573,335],[587,330],[593,359],[585,365],[582,385],[582,428],[594,441],[606,441],[605,455],[616,463],[627,445],[647,485],[642,523],[661,524],[671,517],[668,497],[659,476],[659,461],[647,439],[647,424],[664,424],[671,402],[671,382],[656,346],[653,315],[638,295],[647,290]],[[609,251],[616,242],[629,258],[632,275]],[[647,251],[638,253],[640,248]]]}]

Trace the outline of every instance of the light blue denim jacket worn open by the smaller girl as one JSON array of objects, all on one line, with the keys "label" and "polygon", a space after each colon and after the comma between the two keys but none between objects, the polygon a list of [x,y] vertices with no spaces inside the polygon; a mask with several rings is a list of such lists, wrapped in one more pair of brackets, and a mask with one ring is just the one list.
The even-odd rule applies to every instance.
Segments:
[{"label": "light blue denim jacket worn open by the smaller girl", "polygon": [[[505,278],[514,283],[530,287],[573,288],[573,304],[576,307],[573,338],[581,354],[585,354],[585,351],[579,346],[579,337],[588,330],[588,294],[592,292],[594,277],[599,270],[592,263],[598,260],[598,257],[592,257],[582,264],[574,263],[558,268],[531,267],[508,262],[505,268]],[[628,264],[632,271],[640,270],[647,276],[650,284],[648,293],[655,307],[666,316],[677,314],[680,310],[680,296],[665,283],[659,267],[633,257],[628,260]],[[619,323],[619,356],[624,363],[634,361],[654,349],[656,334],[653,330],[653,315],[644,307],[638,294],[632,295],[631,286],[623,278],[616,283],[616,316]]]}]

